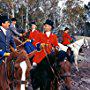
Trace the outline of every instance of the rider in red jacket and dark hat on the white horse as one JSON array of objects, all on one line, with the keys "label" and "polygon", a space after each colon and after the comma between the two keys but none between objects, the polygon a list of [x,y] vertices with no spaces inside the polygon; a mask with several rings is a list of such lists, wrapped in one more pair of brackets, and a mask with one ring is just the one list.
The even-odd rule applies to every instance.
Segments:
[{"label": "rider in red jacket and dark hat on the white horse", "polygon": [[65,30],[64,30],[64,33],[62,35],[62,39],[63,39],[62,44],[63,45],[68,45],[72,41],[72,38],[68,33],[69,33],[69,28],[66,27]]}]

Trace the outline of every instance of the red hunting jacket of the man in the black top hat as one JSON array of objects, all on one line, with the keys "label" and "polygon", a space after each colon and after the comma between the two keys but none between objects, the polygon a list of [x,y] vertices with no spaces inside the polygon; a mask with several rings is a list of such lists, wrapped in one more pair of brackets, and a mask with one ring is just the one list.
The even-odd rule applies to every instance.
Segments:
[{"label": "red hunting jacket of the man in the black top hat", "polygon": [[48,44],[44,49],[41,49],[41,51],[36,52],[33,62],[40,63],[46,56],[47,54],[51,53],[52,47],[53,46],[58,46],[58,39],[55,34],[50,34],[49,37],[47,37],[46,34],[41,34],[41,43]]}]

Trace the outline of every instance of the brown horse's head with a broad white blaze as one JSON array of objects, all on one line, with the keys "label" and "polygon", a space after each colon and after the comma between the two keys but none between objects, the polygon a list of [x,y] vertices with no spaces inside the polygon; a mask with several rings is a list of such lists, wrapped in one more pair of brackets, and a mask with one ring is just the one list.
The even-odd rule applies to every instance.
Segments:
[{"label": "brown horse's head with a broad white blaze", "polygon": [[[12,52],[11,57],[9,57],[8,59],[12,59],[14,58],[14,53]],[[20,87],[21,85],[21,90],[22,90],[22,85],[24,85],[27,82],[27,79],[29,77],[30,74],[30,70],[31,70],[31,64],[28,58],[28,55],[26,53],[25,50],[21,50],[18,52],[18,55],[16,55],[16,60],[14,62],[14,79],[16,83],[16,90],[18,90],[18,86]],[[8,68],[8,77],[11,78],[10,75],[12,75],[11,73],[11,63],[12,60],[8,60],[10,61],[10,63],[8,62],[7,68]],[[22,84],[23,83],[23,84]],[[23,89],[24,90],[24,89]]]}]

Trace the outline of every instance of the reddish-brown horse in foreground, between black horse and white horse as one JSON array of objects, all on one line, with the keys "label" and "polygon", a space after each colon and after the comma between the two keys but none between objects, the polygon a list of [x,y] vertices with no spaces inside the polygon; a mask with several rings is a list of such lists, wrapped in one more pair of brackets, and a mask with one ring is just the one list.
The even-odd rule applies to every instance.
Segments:
[{"label": "reddish-brown horse in foreground, between black horse and white horse", "polygon": [[71,64],[70,64],[70,49],[67,52],[61,51],[61,56],[58,58],[59,75],[64,81],[66,90],[71,90]]}]

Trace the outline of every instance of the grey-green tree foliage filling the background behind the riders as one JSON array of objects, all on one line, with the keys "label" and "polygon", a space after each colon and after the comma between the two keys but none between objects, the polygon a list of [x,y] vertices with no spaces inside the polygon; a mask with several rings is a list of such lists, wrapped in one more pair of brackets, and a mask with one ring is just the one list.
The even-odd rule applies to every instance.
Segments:
[{"label": "grey-green tree foliage filling the background behind the riders", "polygon": [[85,26],[85,9],[80,5],[82,1],[67,0],[63,10],[57,6],[58,2],[59,0],[1,0],[0,14],[5,13],[12,18],[14,12],[17,24],[23,28],[26,23],[36,20],[40,30],[41,25],[49,18],[54,21],[54,27],[68,25],[74,31],[82,30]]}]

